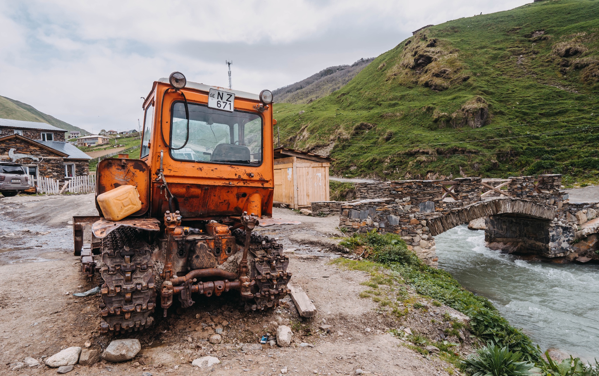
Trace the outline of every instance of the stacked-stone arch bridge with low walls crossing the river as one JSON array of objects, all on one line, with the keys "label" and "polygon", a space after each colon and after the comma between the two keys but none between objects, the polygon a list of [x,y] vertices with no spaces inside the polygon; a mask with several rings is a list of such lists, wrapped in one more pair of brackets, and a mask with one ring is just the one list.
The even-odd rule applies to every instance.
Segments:
[{"label": "stacked-stone arch bridge with low walls crossing the river", "polygon": [[339,214],[350,232],[400,234],[432,266],[433,236],[482,217],[491,248],[554,262],[599,260],[599,204],[570,202],[559,187],[561,175],[358,183],[360,199],[313,202],[312,212]]}]

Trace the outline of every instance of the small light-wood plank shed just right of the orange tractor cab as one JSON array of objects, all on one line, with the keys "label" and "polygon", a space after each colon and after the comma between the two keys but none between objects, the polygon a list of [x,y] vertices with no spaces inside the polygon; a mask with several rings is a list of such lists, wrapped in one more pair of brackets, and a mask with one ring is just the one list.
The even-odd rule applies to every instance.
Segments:
[{"label": "small light-wood plank shed just right of the orange tractor cab", "polygon": [[293,209],[329,201],[329,165],[334,159],[305,151],[274,149],[274,203]]}]

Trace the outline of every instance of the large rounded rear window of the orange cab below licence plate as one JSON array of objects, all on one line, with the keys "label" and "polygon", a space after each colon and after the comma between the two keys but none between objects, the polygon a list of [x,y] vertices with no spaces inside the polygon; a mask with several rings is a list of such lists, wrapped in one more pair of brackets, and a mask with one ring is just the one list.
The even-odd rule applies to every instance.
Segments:
[{"label": "large rounded rear window of the orange cab below licence plate", "polygon": [[[232,113],[188,103],[189,140],[180,150],[171,150],[176,160],[260,165],[262,163],[262,117],[255,113]],[[187,138],[183,102],[173,105],[171,119],[173,148]]]}]

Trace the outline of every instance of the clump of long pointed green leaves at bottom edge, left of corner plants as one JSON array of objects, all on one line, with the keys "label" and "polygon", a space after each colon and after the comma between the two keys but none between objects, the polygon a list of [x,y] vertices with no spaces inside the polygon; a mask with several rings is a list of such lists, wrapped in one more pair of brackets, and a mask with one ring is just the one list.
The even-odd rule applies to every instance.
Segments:
[{"label": "clump of long pointed green leaves at bottom edge, left of corner plants", "polygon": [[536,373],[533,362],[522,361],[522,353],[512,353],[507,346],[495,344],[479,348],[464,363],[472,376],[528,376]]}]

